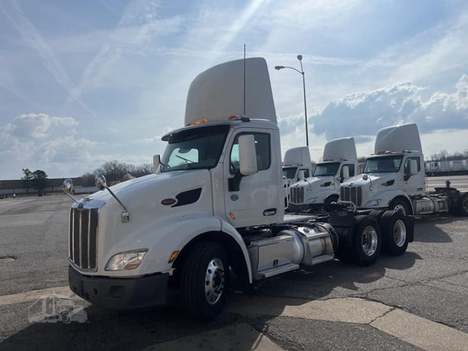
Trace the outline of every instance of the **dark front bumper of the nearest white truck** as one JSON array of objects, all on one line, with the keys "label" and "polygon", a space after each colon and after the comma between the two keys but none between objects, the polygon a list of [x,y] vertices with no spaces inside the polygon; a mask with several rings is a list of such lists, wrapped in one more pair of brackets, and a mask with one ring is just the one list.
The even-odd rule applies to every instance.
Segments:
[{"label": "dark front bumper of the nearest white truck", "polygon": [[68,267],[70,289],[93,305],[127,309],[163,305],[167,302],[169,275],[156,273],[135,278],[84,275]]}]

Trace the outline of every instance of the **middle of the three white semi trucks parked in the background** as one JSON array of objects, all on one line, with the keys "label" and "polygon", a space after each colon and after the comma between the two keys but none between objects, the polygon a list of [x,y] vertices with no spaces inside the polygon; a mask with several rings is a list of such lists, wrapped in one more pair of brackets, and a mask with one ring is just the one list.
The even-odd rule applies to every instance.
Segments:
[{"label": "middle of the three white semi trucks parked in the background", "polygon": [[313,176],[303,178],[289,188],[289,209],[317,209],[338,201],[340,185],[358,169],[354,138],[330,140],[323,149],[322,162]]}]

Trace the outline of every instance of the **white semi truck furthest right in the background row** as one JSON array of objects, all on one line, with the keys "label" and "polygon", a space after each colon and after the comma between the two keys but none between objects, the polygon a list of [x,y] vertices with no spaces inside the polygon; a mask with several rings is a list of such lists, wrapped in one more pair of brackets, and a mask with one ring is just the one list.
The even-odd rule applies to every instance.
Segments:
[{"label": "white semi truck furthest right in the background row", "polygon": [[358,208],[468,215],[468,194],[450,187],[449,182],[426,192],[424,156],[414,123],[378,132],[374,155],[367,158],[362,175],[342,183],[340,198]]}]

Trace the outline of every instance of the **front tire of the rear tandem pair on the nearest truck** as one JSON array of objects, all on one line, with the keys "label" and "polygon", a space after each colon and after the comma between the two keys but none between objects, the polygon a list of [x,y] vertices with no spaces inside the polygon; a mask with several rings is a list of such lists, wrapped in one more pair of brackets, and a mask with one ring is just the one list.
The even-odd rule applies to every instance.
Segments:
[{"label": "front tire of the rear tandem pair on the nearest truck", "polygon": [[355,227],[353,238],[353,261],[359,266],[375,263],[382,250],[380,227],[372,216],[366,216]]}]

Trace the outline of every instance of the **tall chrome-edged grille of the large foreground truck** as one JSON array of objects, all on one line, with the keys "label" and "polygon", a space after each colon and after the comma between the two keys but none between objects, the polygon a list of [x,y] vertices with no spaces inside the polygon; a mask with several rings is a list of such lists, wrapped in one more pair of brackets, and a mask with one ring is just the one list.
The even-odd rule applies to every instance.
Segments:
[{"label": "tall chrome-edged grille of the large foreground truck", "polygon": [[70,211],[69,256],[78,267],[96,270],[97,208],[72,208]]}]

